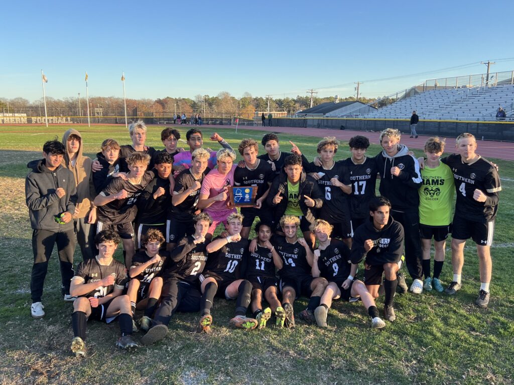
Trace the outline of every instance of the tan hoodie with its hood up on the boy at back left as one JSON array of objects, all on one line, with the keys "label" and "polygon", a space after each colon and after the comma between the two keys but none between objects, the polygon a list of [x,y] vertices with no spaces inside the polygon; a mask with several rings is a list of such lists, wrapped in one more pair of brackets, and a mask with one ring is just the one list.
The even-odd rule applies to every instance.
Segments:
[{"label": "tan hoodie with its hood up on the boy at back left", "polygon": [[[77,158],[75,158],[75,165],[71,163],[68,155],[67,141],[69,136],[73,134],[82,139],[79,131],[74,128],[70,128],[63,135],[63,144],[66,148],[66,153],[63,157],[62,165],[73,173],[75,177],[75,183],[77,184],[77,208],[80,210],[77,216],[73,216],[74,219],[84,218],[89,215],[91,207],[93,207],[93,200],[95,199],[95,186],[93,185],[93,179],[91,174],[91,159],[82,155],[83,144],[80,141],[79,151],[77,152]],[[73,213],[72,213],[73,214]]]}]

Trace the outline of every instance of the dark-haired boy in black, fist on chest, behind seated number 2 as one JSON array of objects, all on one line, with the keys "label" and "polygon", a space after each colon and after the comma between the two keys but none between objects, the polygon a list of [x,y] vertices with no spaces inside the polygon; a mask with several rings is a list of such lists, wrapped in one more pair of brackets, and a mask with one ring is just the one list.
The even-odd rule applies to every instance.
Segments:
[{"label": "dark-haired boy in black, fist on chest, behind seated number 2", "polygon": [[141,248],[141,237],[151,228],[157,228],[162,234],[166,232],[166,216],[170,206],[170,175],[173,158],[166,152],[159,152],[155,157],[157,175],[144,188],[137,200],[136,245]]}]

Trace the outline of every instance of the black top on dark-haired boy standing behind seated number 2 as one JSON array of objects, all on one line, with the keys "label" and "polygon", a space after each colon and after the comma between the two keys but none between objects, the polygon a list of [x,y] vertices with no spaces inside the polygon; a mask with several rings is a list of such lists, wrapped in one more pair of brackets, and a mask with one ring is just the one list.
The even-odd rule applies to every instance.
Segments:
[{"label": "black top on dark-haired boy standing behind seated number 2", "polygon": [[[155,191],[159,187],[164,189],[164,194],[154,199]],[[160,178],[158,175],[150,181],[137,199],[137,223],[164,224],[166,214],[171,205],[170,180]]]}]

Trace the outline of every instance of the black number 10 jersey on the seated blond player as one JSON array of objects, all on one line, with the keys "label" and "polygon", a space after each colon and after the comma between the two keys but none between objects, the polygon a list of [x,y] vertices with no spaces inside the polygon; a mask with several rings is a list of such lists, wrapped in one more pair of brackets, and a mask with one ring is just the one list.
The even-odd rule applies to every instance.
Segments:
[{"label": "black number 10 jersey on the seated blond player", "polygon": [[[216,237],[214,239],[220,239]],[[214,273],[226,280],[241,278],[242,267],[247,259],[248,239],[241,238],[238,242],[229,242],[214,253],[209,254],[205,272]]]}]

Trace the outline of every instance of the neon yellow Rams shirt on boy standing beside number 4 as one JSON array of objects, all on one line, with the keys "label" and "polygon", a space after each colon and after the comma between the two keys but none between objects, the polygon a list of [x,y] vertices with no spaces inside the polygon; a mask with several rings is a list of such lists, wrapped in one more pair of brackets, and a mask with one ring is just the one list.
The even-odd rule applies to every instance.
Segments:
[{"label": "neon yellow Rams shirt on boy standing beside number 4", "polygon": [[421,170],[423,186],[419,187],[419,223],[447,226],[452,221],[455,185],[450,167],[443,162],[435,168]]}]

